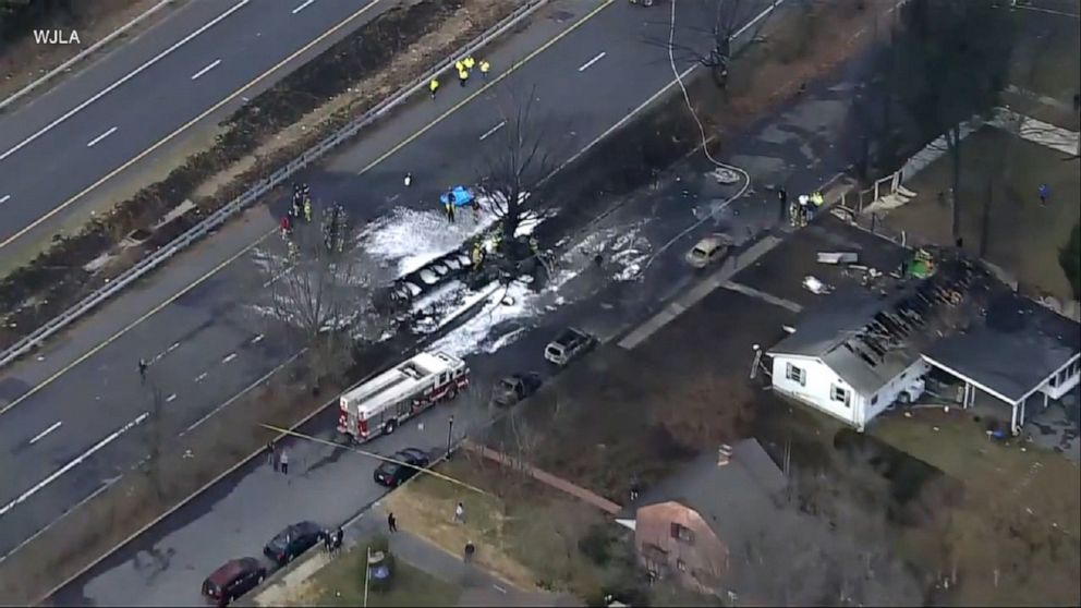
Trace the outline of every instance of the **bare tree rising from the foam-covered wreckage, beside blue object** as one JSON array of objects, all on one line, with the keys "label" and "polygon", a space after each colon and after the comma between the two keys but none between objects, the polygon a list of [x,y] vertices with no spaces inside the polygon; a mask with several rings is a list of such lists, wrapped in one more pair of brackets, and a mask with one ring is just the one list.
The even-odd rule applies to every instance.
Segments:
[{"label": "bare tree rising from the foam-covered wreckage, beside blue object", "polygon": [[499,104],[502,126],[484,145],[477,193],[500,221],[502,252],[510,258],[523,257],[515,247],[515,234],[527,212],[536,212],[542,202],[538,190],[554,169],[546,124],[533,115],[536,87],[522,99],[507,95],[509,106]]}]

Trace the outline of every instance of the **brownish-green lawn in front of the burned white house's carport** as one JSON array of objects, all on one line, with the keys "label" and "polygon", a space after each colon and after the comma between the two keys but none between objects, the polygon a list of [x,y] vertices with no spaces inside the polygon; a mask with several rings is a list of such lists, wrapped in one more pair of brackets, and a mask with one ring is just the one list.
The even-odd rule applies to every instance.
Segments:
[{"label": "brownish-green lawn in front of the burned white house's carport", "polygon": [[[945,527],[908,531],[902,550],[922,563],[950,557],[959,605],[1078,605],[1081,475],[1060,454],[989,440],[964,412],[885,417],[873,434],[960,481]],[[947,508],[944,508],[947,509]],[[952,563],[950,563],[952,562]]]}]

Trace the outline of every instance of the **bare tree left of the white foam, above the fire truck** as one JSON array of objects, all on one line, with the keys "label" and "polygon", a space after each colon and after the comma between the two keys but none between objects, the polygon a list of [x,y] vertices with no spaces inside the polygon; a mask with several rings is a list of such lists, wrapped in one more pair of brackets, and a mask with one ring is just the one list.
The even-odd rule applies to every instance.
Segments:
[{"label": "bare tree left of the white foam, above the fire truck", "polygon": [[373,265],[338,205],[324,210],[321,222],[297,221],[286,250],[284,256],[265,256],[262,309],[313,352],[320,374],[337,376],[348,367],[354,342],[378,327]]}]

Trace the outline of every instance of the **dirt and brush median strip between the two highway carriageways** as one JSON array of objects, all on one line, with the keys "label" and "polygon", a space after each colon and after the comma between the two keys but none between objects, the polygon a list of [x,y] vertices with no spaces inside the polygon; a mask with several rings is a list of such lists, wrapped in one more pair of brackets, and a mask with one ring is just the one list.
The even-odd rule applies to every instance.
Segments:
[{"label": "dirt and brush median strip between the two highway carriageways", "polygon": [[[131,264],[119,259],[93,273],[82,266],[108,252],[123,235],[150,228],[183,200],[196,197],[195,211],[158,229],[141,251],[148,253],[167,244],[514,8],[514,3],[484,0],[416,0],[389,9],[357,28],[234,112],[224,121],[214,147],[99,215],[78,234],[54,240],[48,252],[0,281],[0,304],[10,311],[0,327],[0,346],[10,345],[130,268]],[[361,78],[360,74],[372,75]],[[211,185],[199,190],[207,182]],[[212,195],[197,196],[211,189]]]}]

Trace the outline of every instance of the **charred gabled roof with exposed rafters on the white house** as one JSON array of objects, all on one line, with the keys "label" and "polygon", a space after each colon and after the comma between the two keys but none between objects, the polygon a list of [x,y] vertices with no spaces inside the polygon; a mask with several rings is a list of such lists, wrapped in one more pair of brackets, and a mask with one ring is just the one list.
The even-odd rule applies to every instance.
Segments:
[{"label": "charred gabled roof with exposed rafters on the white house", "polygon": [[872,394],[981,309],[989,284],[985,270],[955,257],[926,279],[838,291],[769,353],[818,358],[855,390]]}]

